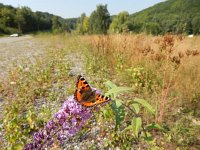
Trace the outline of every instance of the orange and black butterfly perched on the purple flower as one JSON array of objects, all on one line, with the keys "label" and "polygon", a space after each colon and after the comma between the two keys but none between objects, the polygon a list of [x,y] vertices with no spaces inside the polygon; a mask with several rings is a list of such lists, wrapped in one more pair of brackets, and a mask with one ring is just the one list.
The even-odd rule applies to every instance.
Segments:
[{"label": "orange and black butterfly perched on the purple flower", "polygon": [[97,94],[96,90],[92,90],[88,82],[81,75],[77,78],[74,97],[82,106],[85,107],[93,107],[111,101],[109,97]]}]

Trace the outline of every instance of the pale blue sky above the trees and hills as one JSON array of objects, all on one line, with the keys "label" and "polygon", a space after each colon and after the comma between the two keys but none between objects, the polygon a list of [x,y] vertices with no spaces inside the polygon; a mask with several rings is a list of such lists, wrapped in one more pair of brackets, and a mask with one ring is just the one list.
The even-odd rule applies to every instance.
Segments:
[{"label": "pale blue sky above the trees and hills", "polygon": [[153,6],[165,0],[0,0],[0,3],[14,7],[28,6],[32,11],[49,12],[63,18],[79,17],[85,12],[87,16],[98,4],[107,4],[111,15],[121,11],[130,14]]}]

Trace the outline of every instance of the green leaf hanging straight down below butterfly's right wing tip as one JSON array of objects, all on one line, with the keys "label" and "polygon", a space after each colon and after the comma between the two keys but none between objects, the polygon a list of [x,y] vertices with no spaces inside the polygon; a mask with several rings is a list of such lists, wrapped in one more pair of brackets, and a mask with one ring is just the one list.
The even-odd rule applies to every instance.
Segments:
[{"label": "green leaf hanging straight down below butterfly's right wing tip", "polygon": [[112,110],[115,113],[115,130],[121,125],[122,121],[124,120],[125,116],[125,108],[122,105],[120,100],[113,101],[111,105]]}]

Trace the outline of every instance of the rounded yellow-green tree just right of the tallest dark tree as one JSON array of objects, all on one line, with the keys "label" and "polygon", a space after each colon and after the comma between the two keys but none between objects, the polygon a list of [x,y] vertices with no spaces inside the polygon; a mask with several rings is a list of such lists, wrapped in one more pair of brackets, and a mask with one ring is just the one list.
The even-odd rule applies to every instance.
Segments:
[{"label": "rounded yellow-green tree just right of the tallest dark tree", "polygon": [[130,30],[130,22],[128,22],[128,12],[120,12],[110,24],[110,32],[121,33]]}]

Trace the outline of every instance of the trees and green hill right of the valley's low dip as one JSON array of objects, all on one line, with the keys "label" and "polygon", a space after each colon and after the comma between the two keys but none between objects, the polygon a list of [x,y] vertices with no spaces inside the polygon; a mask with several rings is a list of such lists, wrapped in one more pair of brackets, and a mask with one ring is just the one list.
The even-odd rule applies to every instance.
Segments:
[{"label": "trees and green hill right of the valley's low dip", "polygon": [[79,34],[200,34],[200,0],[167,0],[138,13],[123,11],[116,16],[109,15],[107,5],[98,5],[89,17],[84,13],[80,16],[76,31]]}]

